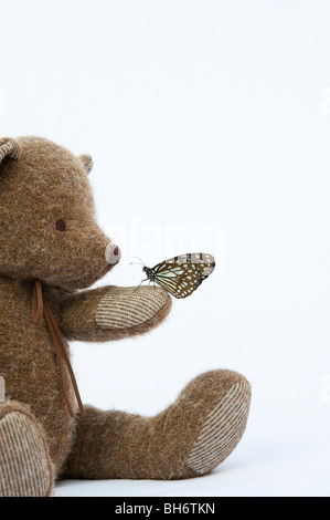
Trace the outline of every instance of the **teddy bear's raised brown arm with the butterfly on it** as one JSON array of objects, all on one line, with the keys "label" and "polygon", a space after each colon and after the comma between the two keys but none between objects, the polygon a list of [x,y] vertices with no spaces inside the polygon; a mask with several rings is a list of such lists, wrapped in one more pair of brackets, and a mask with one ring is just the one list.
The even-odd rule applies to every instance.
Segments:
[{"label": "teddy bear's raised brown arm with the butterfly on it", "polygon": [[60,327],[68,340],[120,340],[159,325],[170,308],[171,298],[162,289],[110,285],[66,298]]}]

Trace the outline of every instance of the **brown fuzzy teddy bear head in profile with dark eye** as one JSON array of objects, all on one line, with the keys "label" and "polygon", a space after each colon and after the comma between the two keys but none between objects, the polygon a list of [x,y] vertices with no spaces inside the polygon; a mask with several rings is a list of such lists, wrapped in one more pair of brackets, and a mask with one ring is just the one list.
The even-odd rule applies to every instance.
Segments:
[{"label": "brown fuzzy teddy bear head in profile with dark eye", "polygon": [[0,139],[0,275],[74,291],[118,263],[96,221],[92,166],[40,137]]}]

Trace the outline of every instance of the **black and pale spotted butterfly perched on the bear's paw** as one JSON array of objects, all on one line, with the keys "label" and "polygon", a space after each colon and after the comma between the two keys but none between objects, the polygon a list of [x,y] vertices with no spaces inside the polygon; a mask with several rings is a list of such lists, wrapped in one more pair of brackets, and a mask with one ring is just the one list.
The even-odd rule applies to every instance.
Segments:
[{"label": "black and pale spotted butterfly perched on the bear's paw", "polygon": [[[190,252],[157,263],[153,268],[143,267],[146,280],[158,283],[175,298],[187,298],[214,271],[212,254]],[[142,283],[141,282],[141,283]]]}]

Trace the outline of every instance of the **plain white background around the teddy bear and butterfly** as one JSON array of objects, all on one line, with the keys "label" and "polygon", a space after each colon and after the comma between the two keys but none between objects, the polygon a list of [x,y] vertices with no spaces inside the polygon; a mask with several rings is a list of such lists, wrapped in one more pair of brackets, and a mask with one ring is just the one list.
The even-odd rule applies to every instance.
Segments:
[{"label": "plain white background around the teddy bear and butterfly", "polygon": [[210,368],[253,385],[210,477],[56,495],[329,495],[329,19],[318,0],[0,1],[0,134],[93,155],[124,253],[100,283],[138,284],[134,254],[217,260],[151,334],[73,345],[83,399],[152,415]]}]

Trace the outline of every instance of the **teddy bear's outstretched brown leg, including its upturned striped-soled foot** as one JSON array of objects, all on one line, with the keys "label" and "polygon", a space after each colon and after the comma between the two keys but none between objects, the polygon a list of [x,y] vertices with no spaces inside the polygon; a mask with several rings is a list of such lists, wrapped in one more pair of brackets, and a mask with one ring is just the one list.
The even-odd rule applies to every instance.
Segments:
[{"label": "teddy bear's outstretched brown leg, including its upturned striped-soled foot", "polygon": [[209,474],[241,440],[249,401],[245,377],[211,371],[155,417],[86,407],[65,477],[180,479]]}]

